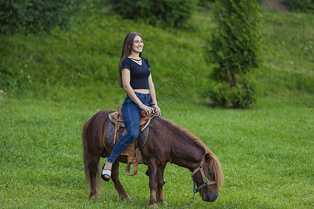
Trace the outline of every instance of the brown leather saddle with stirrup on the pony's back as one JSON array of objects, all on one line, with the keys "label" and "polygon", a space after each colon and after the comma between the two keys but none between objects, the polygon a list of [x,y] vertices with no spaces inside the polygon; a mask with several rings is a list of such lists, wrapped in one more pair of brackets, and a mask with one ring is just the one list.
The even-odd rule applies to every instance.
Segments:
[{"label": "brown leather saddle with stirrup on the pony's back", "polygon": [[[152,118],[154,118],[154,114],[151,114],[148,116],[143,110],[141,111],[141,116],[140,116],[140,132],[143,132],[147,126],[149,125],[150,121]],[[118,141],[118,134],[119,130],[121,127],[124,128],[124,134],[126,134],[126,126],[124,125],[124,119],[122,116],[122,106],[118,108],[118,111],[113,112],[112,114],[109,114],[110,121],[114,123],[114,141],[113,144],[117,144]],[[139,151],[140,148],[137,146],[139,143],[138,137],[135,139],[135,141],[124,150],[121,155],[126,155],[128,156],[128,164],[126,165],[126,174],[129,176],[135,176],[137,174],[137,167],[138,167],[138,157],[139,157]],[[130,165],[133,165],[134,172],[130,172]]]}]

